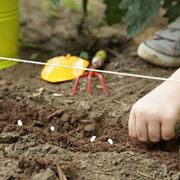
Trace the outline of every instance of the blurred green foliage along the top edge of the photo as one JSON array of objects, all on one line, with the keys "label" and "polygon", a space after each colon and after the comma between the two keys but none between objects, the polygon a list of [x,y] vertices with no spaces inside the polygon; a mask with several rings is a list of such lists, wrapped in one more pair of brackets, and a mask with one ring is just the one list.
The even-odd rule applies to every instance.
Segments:
[{"label": "blurred green foliage along the top edge of the photo", "polygon": [[[56,8],[59,5],[83,11],[86,17],[88,12],[95,13],[91,4],[95,0],[47,0],[43,1],[43,8],[51,7],[51,14],[58,16]],[[169,22],[180,16],[179,0],[102,0],[105,4],[104,19],[108,25],[124,22],[129,38],[142,31],[164,9],[164,16]]]}]

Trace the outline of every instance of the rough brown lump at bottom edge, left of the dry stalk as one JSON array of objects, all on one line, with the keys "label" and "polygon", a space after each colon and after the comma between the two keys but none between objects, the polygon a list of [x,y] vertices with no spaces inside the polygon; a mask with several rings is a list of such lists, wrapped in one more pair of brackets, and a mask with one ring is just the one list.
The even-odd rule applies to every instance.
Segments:
[{"label": "rough brown lump at bottom edge, left of the dry stalk", "polygon": [[55,172],[48,168],[47,170],[34,175],[31,180],[58,180],[58,178]]}]

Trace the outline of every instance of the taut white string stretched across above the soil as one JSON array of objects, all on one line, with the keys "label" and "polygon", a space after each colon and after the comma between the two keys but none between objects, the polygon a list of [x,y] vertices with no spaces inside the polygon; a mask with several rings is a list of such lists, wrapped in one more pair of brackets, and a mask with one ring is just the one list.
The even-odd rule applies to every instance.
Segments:
[{"label": "taut white string stretched across above the soil", "polygon": [[155,76],[146,76],[146,75],[139,75],[139,74],[131,74],[131,73],[123,73],[123,72],[115,72],[115,71],[106,71],[106,70],[83,68],[83,67],[76,67],[76,66],[50,64],[50,63],[44,63],[44,62],[38,62],[38,61],[29,61],[29,60],[24,60],[24,59],[0,57],[0,60],[15,61],[15,62],[22,62],[22,63],[29,63],[29,64],[37,64],[37,65],[42,65],[42,66],[46,65],[46,66],[63,67],[63,68],[70,68],[70,69],[79,69],[79,70],[93,71],[93,72],[99,72],[99,73],[105,73],[105,74],[113,74],[113,75],[119,75],[119,76],[129,76],[129,77],[137,77],[137,78],[143,78],[143,79],[151,79],[151,80],[159,80],[159,81],[171,81],[171,82],[180,83],[180,80],[172,79],[172,78],[162,78],[162,77],[155,77]]}]

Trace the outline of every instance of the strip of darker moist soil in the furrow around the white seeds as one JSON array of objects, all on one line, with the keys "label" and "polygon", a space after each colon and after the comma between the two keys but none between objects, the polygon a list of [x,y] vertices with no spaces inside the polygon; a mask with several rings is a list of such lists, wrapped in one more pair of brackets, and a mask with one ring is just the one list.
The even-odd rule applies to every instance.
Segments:
[{"label": "strip of darker moist soil in the furrow around the white seeds", "polygon": [[[78,111],[71,108],[57,109],[53,106],[32,107],[6,98],[0,101],[0,112],[1,133],[17,131],[21,136],[33,133],[43,142],[49,142],[73,152],[139,151],[150,154],[151,157],[160,158],[162,161],[177,163],[177,167],[179,165],[178,135],[171,142],[154,145],[133,143],[127,135],[127,122],[123,119],[116,119],[116,122],[113,122],[102,112]],[[22,120],[23,127],[17,125],[19,119]],[[55,127],[55,132],[50,130],[52,125]],[[91,143],[90,138],[93,135],[97,136],[97,140]],[[113,145],[108,144],[108,138],[113,139]],[[158,157],[157,151],[161,151]],[[167,154],[167,152],[171,153]]]}]

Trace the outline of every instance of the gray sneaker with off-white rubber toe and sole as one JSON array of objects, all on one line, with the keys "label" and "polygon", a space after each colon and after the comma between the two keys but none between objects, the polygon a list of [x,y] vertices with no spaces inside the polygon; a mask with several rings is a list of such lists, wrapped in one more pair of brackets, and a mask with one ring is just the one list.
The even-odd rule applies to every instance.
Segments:
[{"label": "gray sneaker with off-white rubber toe and sole", "polygon": [[164,31],[156,32],[155,38],[142,42],[138,55],[162,67],[180,67],[180,18]]}]

